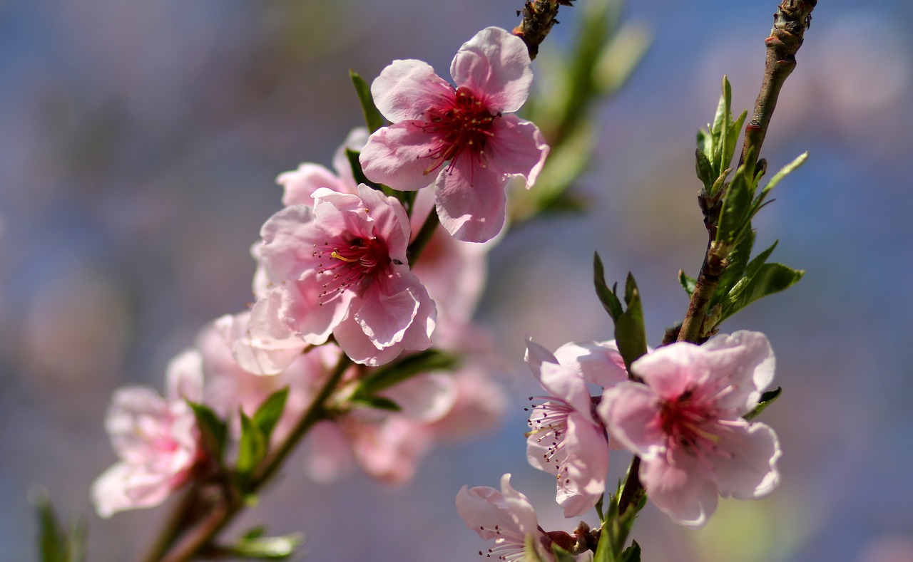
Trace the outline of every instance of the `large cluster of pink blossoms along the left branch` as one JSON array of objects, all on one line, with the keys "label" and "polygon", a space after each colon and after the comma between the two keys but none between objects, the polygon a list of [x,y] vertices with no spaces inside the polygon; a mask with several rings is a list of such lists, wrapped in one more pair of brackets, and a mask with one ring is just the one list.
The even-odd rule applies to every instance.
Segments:
[{"label": "large cluster of pink blossoms along the left branch", "polygon": [[[306,470],[317,480],[358,464],[403,482],[433,443],[498,420],[506,399],[490,379],[488,338],[471,323],[485,282],[482,243],[505,223],[509,179],[522,176],[530,187],[549,147],[535,125],[509,115],[532,79],[519,37],[482,30],[459,49],[451,75],[456,86],[421,61],[394,61],[371,88],[392,124],[370,135],[353,130],[334,156],[335,171],[304,163],[278,177],[284,208],[251,250],[255,303],[212,322],[173,359],[166,398],[141,387],[115,394],[107,429],[121,460],[93,486],[100,515],[161,504],[218,470],[189,402],[214,411],[238,438],[239,412],[250,417],[287,388],[270,435],[276,445],[337,365],[348,367],[333,389],[331,415],[307,442]],[[361,171],[346,150],[361,153]],[[356,182],[357,172],[375,184]],[[418,193],[385,195],[381,183]],[[423,241],[413,264],[410,245],[429,213],[446,232]],[[371,397],[393,402],[395,411],[347,401],[383,365],[432,348],[462,360]]]}]

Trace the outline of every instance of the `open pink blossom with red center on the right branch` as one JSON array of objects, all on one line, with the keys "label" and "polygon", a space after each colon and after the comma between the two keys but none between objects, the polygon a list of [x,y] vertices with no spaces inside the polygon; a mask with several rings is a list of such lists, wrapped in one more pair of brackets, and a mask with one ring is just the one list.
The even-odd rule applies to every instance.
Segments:
[{"label": "open pink blossom with red center on the right branch", "polygon": [[770,427],[741,416],[773,380],[771,344],[758,332],[678,342],[637,359],[644,380],[605,390],[599,413],[641,457],[646,494],[677,523],[703,526],[718,496],[756,499],[779,481],[780,444]]}]

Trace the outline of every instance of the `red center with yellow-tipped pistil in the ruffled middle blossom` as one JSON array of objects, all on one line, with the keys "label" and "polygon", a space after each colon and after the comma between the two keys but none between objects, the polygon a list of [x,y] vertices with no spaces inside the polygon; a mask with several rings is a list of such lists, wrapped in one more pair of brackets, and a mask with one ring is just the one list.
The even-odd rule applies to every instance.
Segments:
[{"label": "red center with yellow-tipped pistil in the ruffled middle blossom", "polygon": [[320,306],[346,289],[361,286],[391,261],[387,247],[377,238],[356,238],[348,245],[315,244],[310,255],[318,260],[317,276],[323,289],[318,297]]}]

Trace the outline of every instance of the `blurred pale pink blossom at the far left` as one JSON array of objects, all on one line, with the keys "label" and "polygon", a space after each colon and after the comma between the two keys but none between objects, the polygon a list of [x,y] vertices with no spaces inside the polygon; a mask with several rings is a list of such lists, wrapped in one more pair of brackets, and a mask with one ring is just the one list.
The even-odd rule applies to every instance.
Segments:
[{"label": "blurred pale pink blossom at the far left", "polygon": [[162,504],[190,479],[202,454],[194,412],[187,404],[201,399],[200,360],[193,350],[172,359],[166,398],[146,387],[114,392],[105,429],[121,460],[92,484],[90,494],[100,516]]}]

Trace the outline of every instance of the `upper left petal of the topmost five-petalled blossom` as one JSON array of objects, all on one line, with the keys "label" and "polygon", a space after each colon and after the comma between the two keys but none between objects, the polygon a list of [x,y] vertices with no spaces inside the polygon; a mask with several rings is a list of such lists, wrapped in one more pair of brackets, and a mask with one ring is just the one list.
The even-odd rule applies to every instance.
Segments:
[{"label": "upper left petal of the topmost five-petalled blossom", "polygon": [[383,68],[371,84],[371,95],[383,117],[397,123],[424,120],[425,109],[453,98],[454,88],[437,76],[428,63],[410,58],[394,60]]}]

